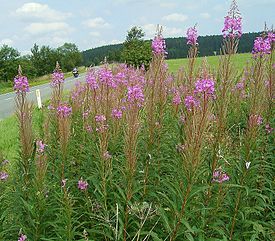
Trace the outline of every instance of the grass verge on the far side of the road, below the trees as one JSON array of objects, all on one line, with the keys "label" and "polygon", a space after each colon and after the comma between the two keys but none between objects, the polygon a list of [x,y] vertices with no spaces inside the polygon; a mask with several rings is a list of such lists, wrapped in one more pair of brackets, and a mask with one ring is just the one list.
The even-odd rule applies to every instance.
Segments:
[{"label": "grass verge on the far side of the road, below the trees", "polygon": [[[85,67],[79,67],[78,72],[84,73],[86,71]],[[71,77],[72,72],[67,72],[64,74],[65,78]],[[29,84],[30,87],[37,86],[37,85],[42,85],[49,83],[51,81],[51,74],[43,75],[41,77],[35,78],[33,80],[30,80]],[[8,83],[0,83],[0,94],[6,94],[9,92],[13,91],[13,82],[8,82]]]}]

